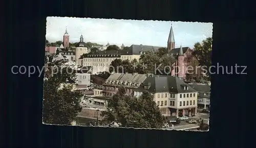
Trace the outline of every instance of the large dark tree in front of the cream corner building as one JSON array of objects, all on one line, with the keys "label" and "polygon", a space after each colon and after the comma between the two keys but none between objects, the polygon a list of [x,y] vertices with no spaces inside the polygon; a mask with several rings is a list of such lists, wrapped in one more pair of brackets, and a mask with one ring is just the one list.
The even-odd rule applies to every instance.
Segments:
[{"label": "large dark tree in front of the cream corner building", "polygon": [[104,122],[117,122],[120,127],[156,128],[161,129],[166,122],[159,108],[153,100],[153,96],[144,91],[139,97],[126,95],[124,87],[109,101],[107,110],[103,111]]}]

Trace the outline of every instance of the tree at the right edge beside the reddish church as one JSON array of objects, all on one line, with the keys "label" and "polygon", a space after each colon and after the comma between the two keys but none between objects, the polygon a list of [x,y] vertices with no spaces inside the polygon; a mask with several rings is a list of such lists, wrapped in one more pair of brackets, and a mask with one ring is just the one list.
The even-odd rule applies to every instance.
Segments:
[{"label": "tree at the right edge beside the reddish church", "polygon": [[[202,43],[195,43],[193,55],[198,59],[200,66],[206,66],[207,70],[211,66],[211,52],[212,52],[212,38],[206,38]],[[205,69],[206,69],[205,68]],[[210,80],[210,73],[207,72],[206,76]]]}]

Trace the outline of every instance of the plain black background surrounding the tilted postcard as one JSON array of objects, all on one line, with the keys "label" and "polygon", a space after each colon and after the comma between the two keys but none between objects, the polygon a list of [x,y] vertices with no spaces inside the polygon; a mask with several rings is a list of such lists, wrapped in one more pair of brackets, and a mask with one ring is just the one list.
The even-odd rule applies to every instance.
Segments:
[{"label": "plain black background surrounding the tilted postcard", "polygon": [[[248,75],[213,75],[209,132],[42,125],[43,77],[12,75],[44,65],[47,16],[213,22],[212,64],[248,65],[255,10],[238,1],[7,1],[1,21],[1,132],[5,147],[248,147],[255,96]],[[248,11],[249,13],[245,13]],[[5,54],[5,52],[7,52]],[[247,68],[247,69],[248,69]],[[248,72],[246,70],[245,72]],[[1,75],[1,76],[2,76]],[[252,79],[250,79],[252,81]],[[252,83],[251,83],[252,84]],[[247,93],[248,92],[248,93]],[[7,98],[2,99],[3,98]],[[250,96],[252,95],[252,96]],[[7,104],[6,104],[7,103]]]}]

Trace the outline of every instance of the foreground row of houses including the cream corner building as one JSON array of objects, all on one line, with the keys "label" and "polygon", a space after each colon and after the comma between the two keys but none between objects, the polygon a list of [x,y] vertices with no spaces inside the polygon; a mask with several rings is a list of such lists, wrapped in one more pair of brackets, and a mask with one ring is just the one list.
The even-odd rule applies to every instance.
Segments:
[{"label": "foreground row of houses including the cream corner building", "polygon": [[198,108],[209,108],[210,86],[186,84],[173,76],[157,76],[151,73],[113,73],[101,87],[86,95],[86,104],[92,108],[106,107],[108,100],[120,87],[126,94],[139,97],[150,92],[165,116],[197,115]]}]

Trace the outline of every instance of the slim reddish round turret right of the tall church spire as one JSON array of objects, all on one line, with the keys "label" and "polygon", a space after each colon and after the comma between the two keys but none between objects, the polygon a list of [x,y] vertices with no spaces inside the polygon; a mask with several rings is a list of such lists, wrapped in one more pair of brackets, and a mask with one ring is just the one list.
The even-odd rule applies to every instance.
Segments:
[{"label": "slim reddish round turret right of the tall church spire", "polygon": [[182,50],[182,46],[180,45],[180,51],[178,54],[178,77],[179,78],[185,78],[185,65],[184,65],[184,54]]}]

